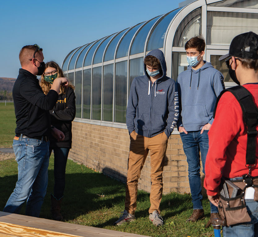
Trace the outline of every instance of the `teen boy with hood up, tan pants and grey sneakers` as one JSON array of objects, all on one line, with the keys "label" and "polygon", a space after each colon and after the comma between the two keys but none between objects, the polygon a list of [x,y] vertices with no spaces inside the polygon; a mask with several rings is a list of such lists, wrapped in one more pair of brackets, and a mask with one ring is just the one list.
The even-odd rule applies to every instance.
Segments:
[{"label": "teen boy with hood up, tan pants and grey sneakers", "polygon": [[[147,66],[146,66],[147,64]],[[178,92],[174,80],[166,76],[167,66],[159,49],[148,53],[144,60],[145,75],[131,84],[126,124],[130,134],[125,210],[115,225],[135,220],[137,184],[150,150],[151,192],[149,219],[154,226],[163,225],[159,204],[162,197],[162,172],[167,139],[178,116]]]}]

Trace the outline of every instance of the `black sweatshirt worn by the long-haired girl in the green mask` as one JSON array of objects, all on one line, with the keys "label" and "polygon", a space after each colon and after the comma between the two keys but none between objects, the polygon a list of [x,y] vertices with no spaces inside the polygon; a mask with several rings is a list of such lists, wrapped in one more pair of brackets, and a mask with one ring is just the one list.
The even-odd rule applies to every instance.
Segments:
[{"label": "black sweatshirt worn by the long-haired girl in the green mask", "polygon": [[75,117],[75,94],[72,88],[68,87],[64,94],[60,94],[54,109],[50,110],[51,125],[61,130],[64,141],[58,142],[50,137],[50,147],[71,148],[72,145],[72,121]]}]

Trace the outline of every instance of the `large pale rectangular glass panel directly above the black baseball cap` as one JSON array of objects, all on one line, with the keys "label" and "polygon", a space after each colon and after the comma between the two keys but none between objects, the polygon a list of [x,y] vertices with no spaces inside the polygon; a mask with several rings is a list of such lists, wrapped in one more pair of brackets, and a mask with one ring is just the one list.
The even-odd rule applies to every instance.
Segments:
[{"label": "large pale rectangular glass panel directly above the black baseball cap", "polygon": [[258,34],[258,14],[242,12],[207,12],[207,44],[230,45],[238,34]]}]

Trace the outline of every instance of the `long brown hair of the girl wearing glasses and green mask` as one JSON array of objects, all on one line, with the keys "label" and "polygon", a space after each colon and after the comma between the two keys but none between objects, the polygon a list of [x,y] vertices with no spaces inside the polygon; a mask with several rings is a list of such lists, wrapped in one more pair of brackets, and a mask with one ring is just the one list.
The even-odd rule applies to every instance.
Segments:
[{"label": "long brown hair of the girl wearing glasses and green mask", "polygon": [[[60,68],[60,66],[54,62],[54,61],[50,61],[50,62],[47,62],[46,65],[45,65],[45,70],[48,68],[48,67],[53,67],[56,69],[57,71],[57,77],[65,77],[64,76],[64,73],[62,71],[62,69]],[[46,95],[50,89],[51,89],[51,84],[48,83],[47,81],[44,80],[44,73],[41,75],[41,80],[40,80],[40,86],[44,92],[44,94]],[[71,87],[72,89],[74,89],[74,86],[69,82],[68,84],[69,87]],[[63,85],[60,86],[60,93],[59,94],[64,94],[65,93],[65,90],[66,90],[66,87],[64,87]]]}]

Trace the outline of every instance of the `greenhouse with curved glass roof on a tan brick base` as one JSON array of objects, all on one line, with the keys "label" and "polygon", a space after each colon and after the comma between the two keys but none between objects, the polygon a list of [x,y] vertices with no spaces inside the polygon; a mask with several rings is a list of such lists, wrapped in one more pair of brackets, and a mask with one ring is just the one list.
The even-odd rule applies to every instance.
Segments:
[{"label": "greenhouse with curved glass roof on a tan brick base", "polygon": [[[126,170],[126,161],[119,168],[117,165],[120,162],[110,159],[121,158],[122,153],[127,160],[127,100],[132,80],[144,74],[145,55],[156,48],[162,50],[167,62],[167,75],[176,80],[177,75],[188,66],[184,48],[186,41],[201,34],[206,41],[204,60],[211,62],[223,73],[225,86],[230,87],[235,84],[228,75],[226,65],[218,61],[218,58],[229,51],[234,36],[247,31],[258,34],[257,0],[187,0],[164,15],[94,42],[85,42],[85,45],[73,49],[62,63],[63,71],[75,85],[76,118],[73,122],[73,134],[78,144],[73,146],[73,153],[77,157],[81,156],[79,160],[82,163],[88,164],[93,159],[97,163],[93,162],[91,166],[101,171],[105,167],[112,167],[116,171],[121,171],[121,168]],[[90,125],[96,125],[94,131],[109,128],[108,132],[118,133],[118,137],[112,140],[110,136],[105,138],[103,135],[104,138],[95,141],[99,134],[92,135],[93,140],[90,142],[93,142],[91,146],[95,151],[93,148],[90,151],[90,145],[85,144],[89,142],[89,134],[92,134]],[[175,155],[179,157],[184,155],[180,148],[180,137],[176,130],[173,131],[172,138],[173,134],[174,138],[179,138],[176,143],[179,148],[175,148]],[[121,148],[119,141],[124,140],[128,141]],[[110,152],[111,158],[108,157],[107,147],[102,147],[105,142],[109,142],[107,146],[113,149],[120,149],[116,152],[120,154]],[[170,147],[174,149],[172,141]],[[99,153],[96,148],[99,148]],[[108,161],[100,162],[98,157],[107,157]],[[178,157],[171,159],[176,160]],[[110,171],[111,176],[113,173]],[[125,175],[126,171],[121,173]]]}]

